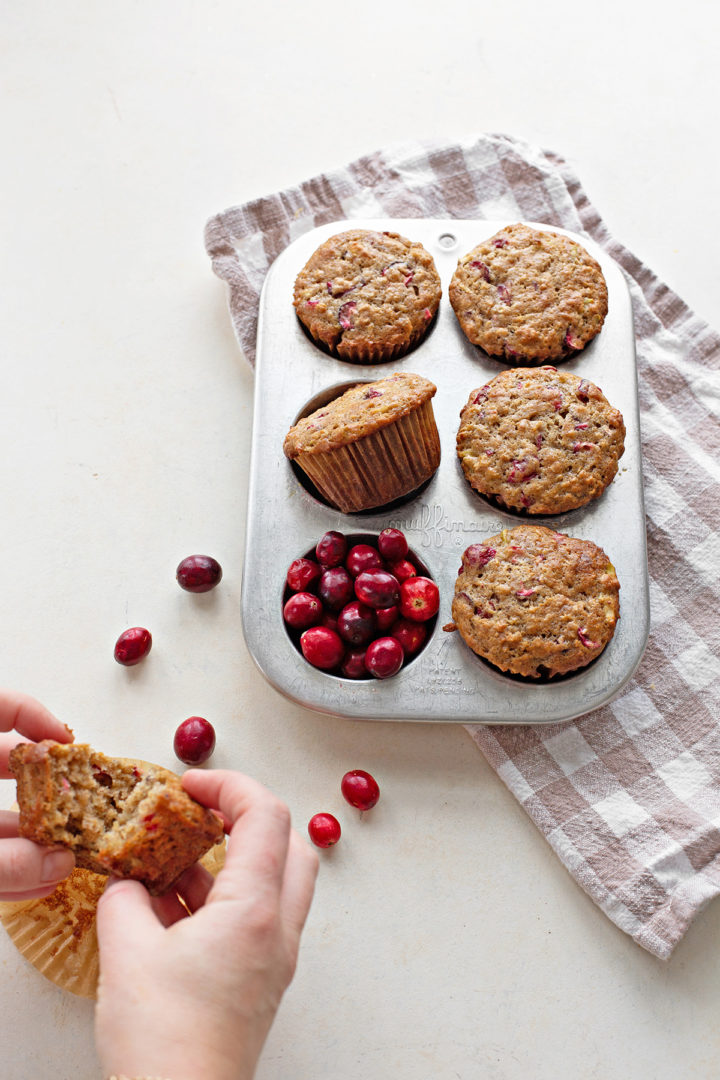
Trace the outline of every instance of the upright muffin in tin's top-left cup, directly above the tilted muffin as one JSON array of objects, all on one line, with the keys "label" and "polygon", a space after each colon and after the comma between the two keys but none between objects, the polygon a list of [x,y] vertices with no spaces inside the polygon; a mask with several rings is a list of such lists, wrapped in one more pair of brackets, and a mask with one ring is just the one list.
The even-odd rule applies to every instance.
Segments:
[{"label": "upright muffin in tin's top-left cup, directly above the tilted muffin", "polygon": [[294,305],[313,340],[341,360],[377,364],[425,335],[440,279],[422,244],[351,229],[317,248],[295,282]]}]

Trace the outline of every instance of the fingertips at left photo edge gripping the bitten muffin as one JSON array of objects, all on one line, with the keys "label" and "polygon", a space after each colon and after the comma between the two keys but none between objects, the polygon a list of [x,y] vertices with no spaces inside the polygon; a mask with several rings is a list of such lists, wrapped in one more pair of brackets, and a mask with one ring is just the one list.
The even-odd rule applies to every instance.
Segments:
[{"label": "fingertips at left photo edge gripping the bitten muffin", "polygon": [[[0,778],[12,778],[8,759],[13,746],[41,739],[72,742],[72,732],[35,698],[0,690]],[[0,810],[0,900],[46,896],[72,870],[74,858],[23,839],[17,821],[13,811]]]}]

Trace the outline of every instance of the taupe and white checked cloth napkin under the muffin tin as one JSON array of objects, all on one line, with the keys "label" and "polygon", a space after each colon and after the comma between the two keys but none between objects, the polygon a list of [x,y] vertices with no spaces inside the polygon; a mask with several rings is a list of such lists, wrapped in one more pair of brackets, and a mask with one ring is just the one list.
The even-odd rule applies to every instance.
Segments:
[{"label": "taupe and white checked cloth napkin under the muffin tin", "polygon": [[625,272],[644,456],[646,656],[619,698],[578,720],[467,730],[575,880],[666,958],[720,892],[720,336],[612,239],[561,157],[481,135],[379,151],[212,218],[207,252],[250,363],[272,260],[301,232],[354,217],[543,221],[592,237]]}]

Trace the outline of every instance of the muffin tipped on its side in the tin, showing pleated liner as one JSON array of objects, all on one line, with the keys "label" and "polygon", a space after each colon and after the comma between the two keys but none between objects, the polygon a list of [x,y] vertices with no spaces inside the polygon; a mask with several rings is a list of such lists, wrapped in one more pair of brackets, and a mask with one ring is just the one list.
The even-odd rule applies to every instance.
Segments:
[{"label": "muffin tipped on its side in the tin, showing pleated liner", "polygon": [[410,373],[361,382],[290,428],[285,455],[344,514],[382,507],[415,491],[440,462],[436,389]]}]

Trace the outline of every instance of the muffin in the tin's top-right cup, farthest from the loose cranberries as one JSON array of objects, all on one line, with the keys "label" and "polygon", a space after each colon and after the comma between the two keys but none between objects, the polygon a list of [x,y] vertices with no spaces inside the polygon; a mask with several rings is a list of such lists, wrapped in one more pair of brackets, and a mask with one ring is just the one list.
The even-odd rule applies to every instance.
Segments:
[{"label": "muffin in the tin's top-right cup, farthest from the loose cranberries", "polygon": [[599,264],[569,237],[527,225],[464,255],[449,296],[473,345],[513,363],[565,360],[600,333],[608,313]]}]

